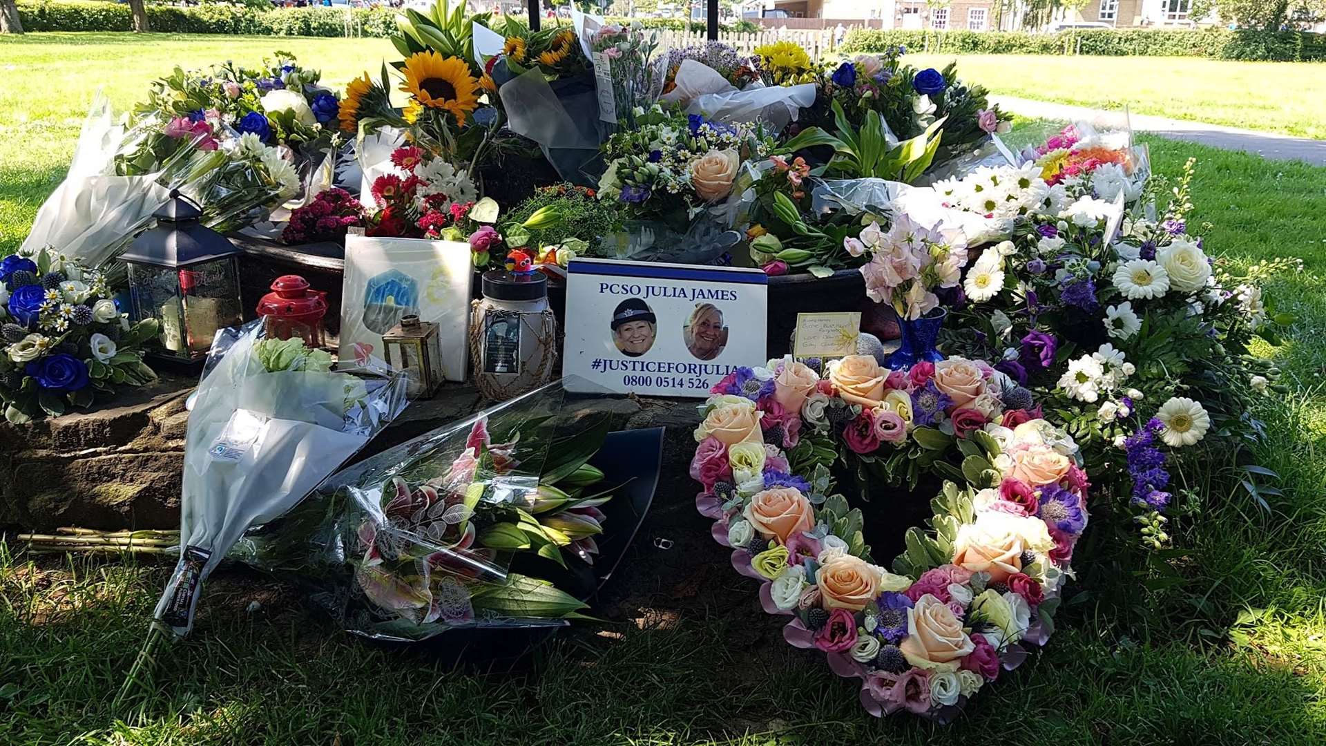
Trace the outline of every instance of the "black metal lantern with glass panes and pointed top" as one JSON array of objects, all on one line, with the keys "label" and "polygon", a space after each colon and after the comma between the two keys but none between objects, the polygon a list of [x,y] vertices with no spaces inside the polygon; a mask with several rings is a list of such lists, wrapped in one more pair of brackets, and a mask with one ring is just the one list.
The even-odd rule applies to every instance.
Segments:
[{"label": "black metal lantern with glass panes and pointed top", "polygon": [[141,234],[121,259],[129,265],[133,319],[156,319],[164,357],[207,356],[217,329],[243,320],[239,247],[203,226],[196,202],[171,190],[156,227]]}]

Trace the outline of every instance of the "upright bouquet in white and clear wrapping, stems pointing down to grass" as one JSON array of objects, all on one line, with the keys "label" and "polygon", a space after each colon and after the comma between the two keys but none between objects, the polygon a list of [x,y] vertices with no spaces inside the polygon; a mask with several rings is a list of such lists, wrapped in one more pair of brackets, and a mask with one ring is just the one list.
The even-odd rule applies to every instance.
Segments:
[{"label": "upright bouquet in white and clear wrapping, stems pointing down to grass", "polygon": [[302,340],[263,323],[217,332],[191,397],[180,499],[180,559],[155,619],[187,634],[203,583],[251,526],[281,516],[406,405],[386,368],[333,370]]}]

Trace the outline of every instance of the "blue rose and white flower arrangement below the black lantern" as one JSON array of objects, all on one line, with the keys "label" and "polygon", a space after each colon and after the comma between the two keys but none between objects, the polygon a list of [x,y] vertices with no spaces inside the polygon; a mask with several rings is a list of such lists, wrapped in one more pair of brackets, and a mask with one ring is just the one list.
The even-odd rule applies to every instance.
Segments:
[{"label": "blue rose and white flower arrangement below the black lantern", "polygon": [[15,423],[86,409],[97,394],[156,380],[137,324],[110,299],[106,276],[50,251],[0,260],[0,404]]}]

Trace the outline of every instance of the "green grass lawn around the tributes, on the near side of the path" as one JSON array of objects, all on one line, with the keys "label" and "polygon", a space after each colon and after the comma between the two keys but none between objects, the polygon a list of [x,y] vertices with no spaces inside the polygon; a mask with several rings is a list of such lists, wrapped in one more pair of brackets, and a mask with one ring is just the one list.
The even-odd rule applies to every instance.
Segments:
[{"label": "green grass lawn around the tributes, on the near side of the path", "polygon": [[[60,52],[49,38],[0,41],[4,65],[12,49],[24,61],[46,60],[37,74],[20,61],[23,72],[7,70],[0,82],[0,254],[58,182],[89,77],[127,102],[180,60],[257,60],[282,48],[343,81],[386,50],[381,41],[162,37],[147,49],[99,42]],[[65,101],[49,90],[77,93]],[[45,100],[54,104],[37,104]],[[0,544],[0,743],[1326,742],[1326,169],[1143,139],[1162,173],[1197,157],[1191,222],[1212,223],[1195,231],[1208,252],[1240,263],[1305,260],[1301,273],[1269,285],[1280,308],[1301,319],[1286,344],[1264,350],[1293,392],[1258,413],[1270,435],[1257,459],[1281,474],[1285,492],[1265,511],[1242,490],[1208,491],[1201,514],[1176,530],[1184,548],[1167,558],[1185,581],[1155,596],[1139,579],[1079,556],[1098,585],[1061,612],[1042,653],[981,692],[953,726],[866,715],[857,688],[821,654],[784,644],[781,624],[758,611],[754,584],[707,542],[708,522],[682,492],[658,496],[651,522],[666,528],[650,534],[699,535],[697,556],[658,550],[642,534],[598,609],[609,623],[569,631],[518,670],[452,672],[436,645],[351,638],[280,584],[223,571],[194,637],[160,656],[154,694],[131,715],[111,700],[168,568],[33,564]],[[1107,600],[1120,588],[1131,601]],[[251,609],[253,600],[260,607]]]}]

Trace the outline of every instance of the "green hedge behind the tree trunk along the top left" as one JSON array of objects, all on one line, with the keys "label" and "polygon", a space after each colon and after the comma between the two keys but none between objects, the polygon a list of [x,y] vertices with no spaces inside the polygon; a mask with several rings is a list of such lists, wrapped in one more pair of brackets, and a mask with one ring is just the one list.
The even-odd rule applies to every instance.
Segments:
[{"label": "green hedge behind the tree trunk along the top left", "polygon": [[[232,5],[149,5],[147,20],[154,32],[162,33],[345,36],[345,8],[322,7],[268,11]],[[353,8],[350,13],[355,35],[387,36],[396,28],[396,11],[392,9]],[[129,5],[106,0],[19,0],[19,17],[25,31],[134,29]],[[688,24],[684,19],[643,19],[636,23],[650,28],[704,31],[703,23]]]}]

